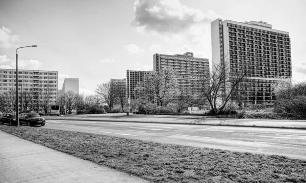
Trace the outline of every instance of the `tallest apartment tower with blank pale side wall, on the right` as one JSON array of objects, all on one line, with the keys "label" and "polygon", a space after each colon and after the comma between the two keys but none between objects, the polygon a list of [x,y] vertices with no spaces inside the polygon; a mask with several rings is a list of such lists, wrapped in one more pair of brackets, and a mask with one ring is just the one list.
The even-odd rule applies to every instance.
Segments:
[{"label": "tallest apartment tower with blank pale side wall, on the right", "polygon": [[251,69],[244,80],[245,104],[273,105],[271,85],[279,77],[292,77],[289,33],[263,21],[217,19],[211,22],[211,38],[213,63],[229,61],[231,73],[241,65]]}]

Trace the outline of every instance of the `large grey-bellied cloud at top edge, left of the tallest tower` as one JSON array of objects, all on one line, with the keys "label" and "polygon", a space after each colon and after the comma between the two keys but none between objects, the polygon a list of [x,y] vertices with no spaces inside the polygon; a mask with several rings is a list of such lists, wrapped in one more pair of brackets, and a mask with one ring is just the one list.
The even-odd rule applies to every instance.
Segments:
[{"label": "large grey-bellied cloud at top edge, left of the tallest tower", "polygon": [[194,24],[210,23],[217,17],[214,11],[205,14],[182,5],[179,0],[137,0],[134,11],[134,28],[161,34],[181,33]]}]

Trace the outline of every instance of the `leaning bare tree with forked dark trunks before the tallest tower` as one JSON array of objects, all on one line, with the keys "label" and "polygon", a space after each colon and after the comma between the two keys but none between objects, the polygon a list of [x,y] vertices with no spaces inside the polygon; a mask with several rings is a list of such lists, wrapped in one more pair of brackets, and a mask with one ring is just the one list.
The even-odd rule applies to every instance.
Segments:
[{"label": "leaning bare tree with forked dark trunks before the tallest tower", "polygon": [[241,63],[238,68],[231,67],[229,60],[213,63],[210,73],[201,72],[200,91],[211,106],[212,113],[221,111],[230,101],[234,92],[242,87],[242,81],[250,70]]}]

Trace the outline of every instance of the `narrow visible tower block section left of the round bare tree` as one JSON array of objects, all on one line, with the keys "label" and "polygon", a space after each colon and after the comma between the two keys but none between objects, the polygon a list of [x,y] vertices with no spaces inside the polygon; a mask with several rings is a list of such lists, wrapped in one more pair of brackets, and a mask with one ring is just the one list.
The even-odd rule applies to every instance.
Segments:
[{"label": "narrow visible tower block section left of the round bare tree", "polygon": [[143,77],[150,71],[131,71],[126,70],[126,97],[131,101],[135,100],[135,87],[143,80]]}]

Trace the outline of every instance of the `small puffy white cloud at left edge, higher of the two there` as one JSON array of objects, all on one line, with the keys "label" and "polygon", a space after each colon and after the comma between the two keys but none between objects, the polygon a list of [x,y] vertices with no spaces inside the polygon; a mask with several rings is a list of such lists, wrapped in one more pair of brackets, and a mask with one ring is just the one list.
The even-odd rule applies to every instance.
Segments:
[{"label": "small puffy white cloud at left edge, higher of the two there", "polygon": [[9,28],[4,26],[0,28],[0,48],[10,48],[17,41],[19,41],[19,37],[12,35],[12,31]]}]

